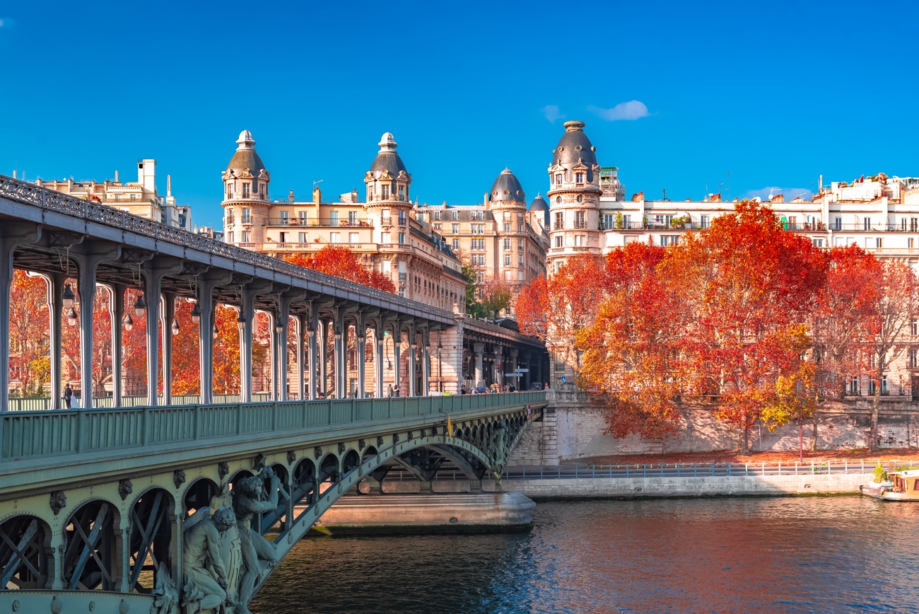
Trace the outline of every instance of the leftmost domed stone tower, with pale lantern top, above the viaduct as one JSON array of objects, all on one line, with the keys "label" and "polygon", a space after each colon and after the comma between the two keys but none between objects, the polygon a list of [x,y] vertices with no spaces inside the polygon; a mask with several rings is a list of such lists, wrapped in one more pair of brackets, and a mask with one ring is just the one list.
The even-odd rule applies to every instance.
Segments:
[{"label": "leftmost domed stone tower, with pale lantern top, above the viaduct", "polygon": [[227,243],[252,246],[265,241],[263,227],[271,210],[271,174],[255,151],[252,132],[240,132],[236,144],[236,152],[222,174],[223,233]]}]

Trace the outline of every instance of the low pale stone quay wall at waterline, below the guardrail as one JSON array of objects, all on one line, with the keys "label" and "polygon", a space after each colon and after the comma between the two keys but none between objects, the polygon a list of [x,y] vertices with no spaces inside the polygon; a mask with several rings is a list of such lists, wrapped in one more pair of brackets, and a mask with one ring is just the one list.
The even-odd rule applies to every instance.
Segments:
[{"label": "low pale stone quay wall at waterline, below the guardrail", "polygon": [[[640,498],[667,496],[838,495],[859,492],[870,473],[718,477],[562,478],[503,480],[501,490],[531,499]],[[482,488],[494,490],[494,482]]]}]

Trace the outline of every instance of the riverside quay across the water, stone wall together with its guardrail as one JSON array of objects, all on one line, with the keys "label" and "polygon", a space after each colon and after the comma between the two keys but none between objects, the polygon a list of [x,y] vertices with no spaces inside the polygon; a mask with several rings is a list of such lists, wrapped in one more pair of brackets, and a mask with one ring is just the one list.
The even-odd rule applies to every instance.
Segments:
[{"label": "riverside quay across the water, stone wall together with its guardrail", "polygon": [[[870,461],[849,463],[733,463],[654,465],[555,465],[512,467],[500,486],[485,490],[526,495],[534,501],[581,498],[854,495],[871,483]],[[888,463],[885,463],[885,465]]]}]

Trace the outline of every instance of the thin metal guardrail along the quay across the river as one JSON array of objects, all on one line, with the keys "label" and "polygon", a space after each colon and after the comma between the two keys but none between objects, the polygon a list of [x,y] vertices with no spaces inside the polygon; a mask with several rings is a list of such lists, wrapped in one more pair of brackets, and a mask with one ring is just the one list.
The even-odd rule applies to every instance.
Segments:
[{"label": "thin metal guardrail along the quay across the river", "polygon": [[[635,465],[517,465],[505,471],[506,480],[559,480],[574,478],[692,478],[741,477],[745,475],[838,475],[871,473],[878,460],[831,460],[825,462],[677,462]],[[887,471],[895,471],[899,461],[882,462]]]}]

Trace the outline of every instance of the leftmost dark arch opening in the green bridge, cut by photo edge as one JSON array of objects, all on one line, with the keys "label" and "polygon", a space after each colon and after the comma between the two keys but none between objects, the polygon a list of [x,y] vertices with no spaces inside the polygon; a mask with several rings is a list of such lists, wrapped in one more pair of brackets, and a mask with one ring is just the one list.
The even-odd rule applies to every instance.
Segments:
[{"label": "leftmost dark arch opening in the green bridge, cut by photo edge", "polygon": [[40,517],[14,514],[0,522],[0,591],[17,588],[50,588],[54,551],[51,527]]}]

